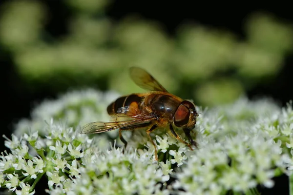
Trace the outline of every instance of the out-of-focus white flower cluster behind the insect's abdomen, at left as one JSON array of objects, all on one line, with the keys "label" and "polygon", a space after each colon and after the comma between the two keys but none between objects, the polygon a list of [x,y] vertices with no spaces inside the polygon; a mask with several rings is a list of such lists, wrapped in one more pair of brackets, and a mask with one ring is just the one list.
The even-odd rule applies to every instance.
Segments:
[{"label": "out-of-focus white flower cluster behind the insect's abdomen, at left", "polygon": [[[21,136],[23,133],[38,131],[45,134],[43,121],[66,121],[69,126],[83,126],[86,123],[97,120],[109,120],[107,105],[119,96],[116,92],[100,92],[94,89],[82,91],[70,91],[61,95],[56,100],[44,100],[32,111],[32,120],[22,119],[16,124],[14,134]],[[117,133],[109,133],[116,137]]]}]

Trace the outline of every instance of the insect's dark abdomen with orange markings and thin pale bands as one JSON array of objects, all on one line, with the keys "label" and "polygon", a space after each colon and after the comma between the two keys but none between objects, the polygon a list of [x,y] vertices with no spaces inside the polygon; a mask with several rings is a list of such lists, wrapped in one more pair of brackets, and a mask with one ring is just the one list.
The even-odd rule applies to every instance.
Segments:
[{"label": "insect's dark abdomen with orange markings and thin pale bands", "polygon": [[139,97],[136,94],[132,94],[129,96],[123,96],[118,99],[116,99],[114,102],[112,102],[107,107],[107,112],[109,115],[116,114],[119,108],[125,107],[125,106],[137,106],[139,107],[140,103],[143,101],[143,97]]}]

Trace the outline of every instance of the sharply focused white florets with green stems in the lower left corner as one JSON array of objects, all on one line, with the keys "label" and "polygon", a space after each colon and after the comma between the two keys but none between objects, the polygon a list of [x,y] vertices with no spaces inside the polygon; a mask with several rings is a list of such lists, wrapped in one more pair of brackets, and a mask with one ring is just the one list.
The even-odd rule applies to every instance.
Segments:
[{"label": "sharply focused white florets with green stems in the lower left corner", "polygon": [[[21,137],[5,137],[6,151],[0,156],[0,184],[16,194],[34,194],[42,176],[48,176],[48,185],[59,185],[64,178],[79,174],[77,160],[84,156],[92,139],[82,136],[64,124],[43,124],[45,137],[38,132]],[[19,187],[19,188],[18,188]]]}]

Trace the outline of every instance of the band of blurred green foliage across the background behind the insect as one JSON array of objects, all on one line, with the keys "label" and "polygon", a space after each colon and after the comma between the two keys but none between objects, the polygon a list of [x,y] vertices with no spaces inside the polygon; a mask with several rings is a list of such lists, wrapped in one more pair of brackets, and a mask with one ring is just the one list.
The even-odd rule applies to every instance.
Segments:
[{"label": "band of blurred green foliage across the background behind the insect", "polygon": [[6,1],[0,7],[1,57],[11,60],[30,93],[83,86],[143,92],[128,75],[129,66],[140,66],[171,93],[214,106],[272,83],[292,55],[292,22],[273,14],[248,13],[241,24],[244,36],[197,23],[196,17],[169,33],[166,24],[135,12],[115,20],[115,3],[123,5]]}]

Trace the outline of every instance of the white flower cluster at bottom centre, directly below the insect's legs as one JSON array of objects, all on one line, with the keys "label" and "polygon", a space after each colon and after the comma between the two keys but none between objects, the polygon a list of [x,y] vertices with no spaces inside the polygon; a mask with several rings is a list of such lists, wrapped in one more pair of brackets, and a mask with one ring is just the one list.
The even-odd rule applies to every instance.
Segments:
[{"label": "white flower cluster at bottom centre, directly below the insect's legs", "polygon": [[[123,151],[115,147],[101,152],[90,149],[85,151],[83,168],[75,179],[60,180],[62,183],[48,194],[68,195],[150,195],[152,193],[167,195],[168,191],[159,182],[165,182],[162,169],[153,163],[151,153],[147,151]],[[93,151],[94,150],[94,151]]]}]

